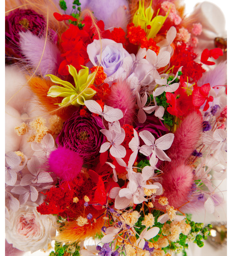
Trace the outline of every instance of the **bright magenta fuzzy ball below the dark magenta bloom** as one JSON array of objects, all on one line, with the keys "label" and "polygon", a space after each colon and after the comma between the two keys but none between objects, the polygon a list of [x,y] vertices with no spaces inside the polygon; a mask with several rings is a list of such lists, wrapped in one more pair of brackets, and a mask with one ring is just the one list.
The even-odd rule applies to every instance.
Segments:
[{"label": "bright magenta fuzzy ball below the dark magenta bloom", "polygon": [[58,147],[48,157],[50,170],[61,180],[73,180],[82,168],[83,159],[77,152]]}]

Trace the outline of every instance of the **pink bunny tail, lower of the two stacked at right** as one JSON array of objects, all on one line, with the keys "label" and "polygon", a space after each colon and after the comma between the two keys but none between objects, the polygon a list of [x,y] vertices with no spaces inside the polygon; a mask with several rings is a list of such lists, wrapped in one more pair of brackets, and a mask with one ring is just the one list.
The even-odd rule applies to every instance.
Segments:
[{"label": "pink bunny tail, lower of the two stacked at right", "polygon": [[[192,192],[194,175],[190,166],[180,164],[174,166],[170,164],[169,169],[162,175],[162,187],[164,193],[162,197],[167,197],[169,205],[177,209],[189,201],[189,194]],[[165,209],[158,201],[155,206],[159,209]]]}]

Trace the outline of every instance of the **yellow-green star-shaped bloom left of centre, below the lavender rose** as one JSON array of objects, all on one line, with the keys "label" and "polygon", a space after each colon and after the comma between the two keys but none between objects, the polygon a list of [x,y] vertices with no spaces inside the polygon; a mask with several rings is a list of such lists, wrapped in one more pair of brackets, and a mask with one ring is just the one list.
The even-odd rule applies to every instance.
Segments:
[{"label": "yellow-green star-shaped bloom left of centre, below the lavender rose", "polygon": [[85,105],[85,100],[90,100],[96,94],[92,88],[89,88],[89,85],[94,83],[95,72],[89,74],[89,68],[82,66],[83,69],[77,73],[77,69],[72,65],[68,65],[68,71],[73,76],[75,87],[67,82],[63,81],[57,76],[48,74],[53,83],[58,83],[63,85],[63,87],[58,85],[53,85],[48,91],[49,97],[64,97],[59,106],[68,106],[70,104],[74,106]]}]

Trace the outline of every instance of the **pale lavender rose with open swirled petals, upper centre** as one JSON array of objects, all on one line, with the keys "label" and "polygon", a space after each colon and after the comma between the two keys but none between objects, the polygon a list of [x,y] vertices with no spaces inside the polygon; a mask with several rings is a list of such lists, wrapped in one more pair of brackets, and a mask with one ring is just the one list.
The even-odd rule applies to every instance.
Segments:
[{"label": "pale lavender rose with open swirled petals, upper centre", "polygon": [[87,54],[94,66],[98,66],[100,62],[107,74],[105,83],[126,76],[125,69],[129,68],[133,62],[131,55],[123,48],[123,45],[111,39],[102,39],[101,42],[95,39],[87,46]]}]

